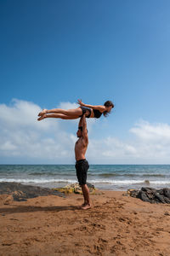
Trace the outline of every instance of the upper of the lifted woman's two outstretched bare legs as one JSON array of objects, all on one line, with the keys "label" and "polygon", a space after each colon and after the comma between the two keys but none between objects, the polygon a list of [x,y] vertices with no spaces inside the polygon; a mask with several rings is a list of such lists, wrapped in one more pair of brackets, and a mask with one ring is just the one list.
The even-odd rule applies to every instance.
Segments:
[{"label": "upper of the lifted woman's two outstretched bare legs", "polygon": [[38,116],[43,115],[44,113],[62,113],[67,116],[75,116],[75,115],[82,115],[82,109],[81,108],[75,108],[75,109],[62,109],[62,108],[54,108],[54,109],[43,109],[42,112],[38,113]]}]

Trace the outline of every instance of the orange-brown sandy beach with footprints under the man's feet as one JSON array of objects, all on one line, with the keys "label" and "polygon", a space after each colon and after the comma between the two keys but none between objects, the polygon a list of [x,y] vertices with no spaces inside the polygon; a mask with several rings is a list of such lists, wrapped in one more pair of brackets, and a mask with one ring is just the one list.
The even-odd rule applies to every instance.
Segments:
[{"label": "orange-brown sandy beach with footprints under the man's feet", "polygon": [[170,205],[100,191],[12,201],[0,195],[0,255],[170,255]]}]

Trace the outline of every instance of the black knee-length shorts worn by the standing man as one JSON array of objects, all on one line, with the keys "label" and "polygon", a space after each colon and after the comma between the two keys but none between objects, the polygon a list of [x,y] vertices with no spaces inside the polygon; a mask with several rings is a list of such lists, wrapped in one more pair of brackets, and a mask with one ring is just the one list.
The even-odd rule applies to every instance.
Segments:
[{"label": "black knee-length shorts worn by the standing man", "polygon": [[85,159],[78,160],[75,167],[77,169],[77,179],[79,185],[85,185],[87,180],[87,172],[89,168],[88,161]]}]

